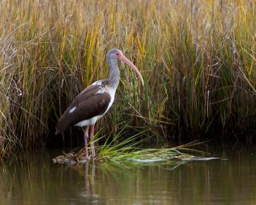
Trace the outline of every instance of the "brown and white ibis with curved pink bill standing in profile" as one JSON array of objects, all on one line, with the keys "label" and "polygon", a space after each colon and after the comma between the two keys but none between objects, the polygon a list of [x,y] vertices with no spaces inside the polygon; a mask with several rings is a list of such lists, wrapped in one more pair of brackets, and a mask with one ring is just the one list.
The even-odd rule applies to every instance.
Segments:
[{"label": "brown and white ibis with curved pink bill standing in profile", "polygon": [[[74,101],[65,110],[56,127],[55,134],[58,135],[70,126],[80,126],[84,128],[84,154],[88,159],[88,140],[92,140],[94,134],[94,126],[98,119],[102,118],[114,102],[116,88],[120,80],[120,71],[118,61],[123,61],[131,66],[132,70],[137,73],[141,84],[143,78],[138,68],[124,56],[121,50],[111,49],[107,56],[109,65],[109,79],[98,80],[92,85],[86,87]],[[91,129],[90,129],[91,127]],[[90,129],[90,136],[89,136]],[[90,138],[89,138],[90,137]],[[91,143],[92,158],[95,158],[95,149],[93,142]]]}]

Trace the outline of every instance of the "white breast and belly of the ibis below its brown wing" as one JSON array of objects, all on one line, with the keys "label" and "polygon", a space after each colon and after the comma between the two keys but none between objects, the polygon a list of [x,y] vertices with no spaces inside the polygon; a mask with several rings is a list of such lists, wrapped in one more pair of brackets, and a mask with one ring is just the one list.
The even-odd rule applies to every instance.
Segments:
[{"label": "white breast and belly of the ibis below its brown wing", "polygon": [[116,88],[108,87],[106,92],[108,92],[109,95],[111,96],[111,100],[108,104],[108,107],[107,107],[106,111],[102,115],[95,116],[95,117],[90,118],[90,119],[84,119],[83,121],[80,121],[79,123],[76,123],[74,126],[94,125],[98,119],[102,118],[104,116],[104,114],[106,114],[106,112],[108,112],[109,108],[112,106],[112,104],[115,100]]}]

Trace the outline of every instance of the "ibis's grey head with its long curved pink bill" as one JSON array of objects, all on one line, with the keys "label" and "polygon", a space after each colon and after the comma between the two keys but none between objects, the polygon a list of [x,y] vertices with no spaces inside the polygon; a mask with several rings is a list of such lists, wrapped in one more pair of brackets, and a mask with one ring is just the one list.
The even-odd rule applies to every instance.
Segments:
[{"label": "ibis's grey head with its long curved pink bill", "polygon": [[144,86],[144,81],[143,78],[141,76],[141,73],[139,72],[138,68],[136,68],[136,66],[134,66],[134,64],[129,61],[129,59],[127,59],[127,57],[124,56],[123,52],[119,49],[111,49],[109,50],[108,54],[107,54],[107,60],[108,63],[117,63],[117,61],[122,61],[124,63],[126,63],[127,65],[131,66],[132,70],[134,70],[134,72],[137,73],[138,77],[141,80],[141,84],[142,86]]}]

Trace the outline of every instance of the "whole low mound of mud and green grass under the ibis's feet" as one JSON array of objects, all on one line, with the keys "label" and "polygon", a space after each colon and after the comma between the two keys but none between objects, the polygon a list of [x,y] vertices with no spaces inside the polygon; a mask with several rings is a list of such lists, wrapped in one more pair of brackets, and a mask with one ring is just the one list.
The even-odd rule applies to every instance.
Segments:
[{"label": "whole low mound of mud and green grass under the ibis's feet", "polygon": [[[159,161],[170,161],[170,160],[182,160],[182,158],[193,158],[195,154],[203,156],[207,153],[192,149],[191,146],[196,146],[198,142],[191,142],[181,146],[173,148],[147,148],[145,142],[148,139],[141,138],[143,132],[139,132],[136,135],[127,137],[126,126],[120,130],[115,136],[109,137],[105,140],[104,144],[96,146],[96,158],[84,157],[84,148],[70,153],[64,153],[64,155],[57,156],[52,159],[54,163],[66,163],[67,165],[84,164],[88,162],[120,162],[120,161],[131,161],[131,162],[159,162]],[[99,132],[95,135],[92,141],[94,143],[104,137],[99,137]],[[90,147],[88,148],[90,152]]]}]

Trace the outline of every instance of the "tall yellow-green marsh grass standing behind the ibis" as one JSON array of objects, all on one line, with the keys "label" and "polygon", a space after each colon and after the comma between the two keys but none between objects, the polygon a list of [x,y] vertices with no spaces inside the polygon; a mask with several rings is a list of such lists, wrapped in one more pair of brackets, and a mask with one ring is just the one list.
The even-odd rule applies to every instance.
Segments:
[{"label": "tall yellow-green marsh grass standing behind the ibis", "polygon": [[255,5],[1,1],[0,153],[44,145],[74,97],[108,77],[112,47],[138,66],[145,87],[120,65],[102,135],[124,124],[165,138],[255,132]]}]

